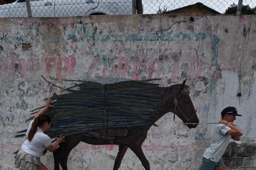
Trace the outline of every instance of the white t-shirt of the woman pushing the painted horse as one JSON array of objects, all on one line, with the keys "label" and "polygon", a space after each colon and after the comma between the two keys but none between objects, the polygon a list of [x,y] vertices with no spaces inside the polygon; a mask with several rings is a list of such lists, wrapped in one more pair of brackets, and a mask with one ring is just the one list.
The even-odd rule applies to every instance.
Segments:
[{"label": "white t-shirt of the woman pushing the painted horse", "polygon": [[[28,133],[31,129],[34,120],[29,123],[26,138],[28,137]],[[33,139],[29,142],[28,139],[23,143],[21,149],[27,152],[28,154],[34,155],[36,157],[41,157],[43,155],[43,151],[45,148],[50,147],[52,145],[51,139],[48,135],[44,134],[41,129],[37,129]]]}]

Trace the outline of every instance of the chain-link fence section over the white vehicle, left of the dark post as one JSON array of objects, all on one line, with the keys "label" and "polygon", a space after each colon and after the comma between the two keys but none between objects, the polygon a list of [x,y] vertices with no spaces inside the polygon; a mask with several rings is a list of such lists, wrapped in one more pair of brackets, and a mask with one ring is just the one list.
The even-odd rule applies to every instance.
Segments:
[{"label": "chain-link fence section over the white vehicle, left of the dark post", "polygon": [[[30,0],[33,17],[132,14],[131,0]],[[25,0],[0,5],[0,17],[28,17]]]}]

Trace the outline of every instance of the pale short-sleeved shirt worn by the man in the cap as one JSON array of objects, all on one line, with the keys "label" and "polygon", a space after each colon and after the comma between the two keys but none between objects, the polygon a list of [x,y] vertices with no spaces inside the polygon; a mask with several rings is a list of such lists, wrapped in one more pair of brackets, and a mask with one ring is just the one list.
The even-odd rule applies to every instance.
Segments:
[{"label": "pale short-sleeved shirt worn by the man in the cap", "polygon": [[231,128],[225,124],[218,124],[215,127],[213,142],[211,146],[205,150],[203,157],[213,162],[219,162],[231,139],[231,135],[226,134],[230,129]]}]

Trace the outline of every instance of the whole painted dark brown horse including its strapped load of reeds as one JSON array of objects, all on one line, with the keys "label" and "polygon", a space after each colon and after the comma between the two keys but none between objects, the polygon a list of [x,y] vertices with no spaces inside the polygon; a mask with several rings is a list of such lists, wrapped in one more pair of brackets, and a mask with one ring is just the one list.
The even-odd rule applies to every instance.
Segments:
[{"label": "whole painted dark brown horse including its strapped load of reeds", "polygon": [[[199,120],[189,97],[190,88],[182,84],[159,87],[151,80],[123,81],[112,84],[83,82],[69,88],[69,94],[53,96],[54,107],[46,112],[52,118],[47,135],[66,135],[66,142],[53,152],[54,170],[67,170],[70,151],[80,141],[91,145],[119,145],[114,170],[118,169],[127,148],[140,159],[146,170],[149,162],[141,149],[147,132],[168,112],[174,113],[188,128]],[[158,80],[158,79],[157,79]],[[79,88],[79,90],[71,90]]]}]

